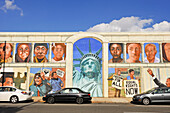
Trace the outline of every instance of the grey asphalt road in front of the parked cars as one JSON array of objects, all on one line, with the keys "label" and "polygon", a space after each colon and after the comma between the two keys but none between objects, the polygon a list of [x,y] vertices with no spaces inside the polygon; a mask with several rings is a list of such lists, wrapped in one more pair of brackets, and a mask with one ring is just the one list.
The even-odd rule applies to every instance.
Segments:
[{"label": "grey asphalt road in front of the parked cars", "polygon": [[76,104],[76,103],[38,103],[17,104],[0,103],[0,113],[170,113],[170,103],[140,104]]}]

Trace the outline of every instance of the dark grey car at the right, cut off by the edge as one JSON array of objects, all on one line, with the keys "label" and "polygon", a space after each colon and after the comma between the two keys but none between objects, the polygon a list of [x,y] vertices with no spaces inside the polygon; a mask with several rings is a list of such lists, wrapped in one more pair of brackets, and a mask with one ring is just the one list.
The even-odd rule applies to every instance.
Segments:
[{"label": "dark grey car at the right, cut off by the edge", "polygon": [[154,102],[170,102],[170,87],[155,87],[142,94],[134,95],[133,102],[149,105]]}]

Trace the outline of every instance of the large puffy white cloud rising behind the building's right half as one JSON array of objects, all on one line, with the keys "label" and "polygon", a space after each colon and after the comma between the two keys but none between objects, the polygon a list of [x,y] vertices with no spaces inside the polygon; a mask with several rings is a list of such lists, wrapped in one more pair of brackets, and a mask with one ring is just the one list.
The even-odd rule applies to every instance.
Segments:
[{"label": "large puffy white cloud rising behind the building's right half", "polygon": [[170,23],[163,21],[147,27],[153,23],[152,19],[140,19],[139,17],[123,17],[110,23],[101,23],[87,30],[87,32],[166,32],[170,31]]}]

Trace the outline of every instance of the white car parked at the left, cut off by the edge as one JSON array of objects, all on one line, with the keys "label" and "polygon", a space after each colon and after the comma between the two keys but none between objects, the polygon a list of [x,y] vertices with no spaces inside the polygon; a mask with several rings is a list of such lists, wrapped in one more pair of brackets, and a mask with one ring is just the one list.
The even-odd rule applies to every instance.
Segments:
[{"label": "white car parked at the left, cut off by the edge", "polygon": [[0,101],[16,103],[25,100],[32,100],[31,92],[22,91],[12,86],[0,87]]}]

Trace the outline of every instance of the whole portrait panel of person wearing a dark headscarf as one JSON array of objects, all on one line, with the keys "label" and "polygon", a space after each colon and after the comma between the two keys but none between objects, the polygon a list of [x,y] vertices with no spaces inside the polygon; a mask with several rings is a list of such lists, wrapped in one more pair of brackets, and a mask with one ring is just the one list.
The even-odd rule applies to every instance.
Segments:
[{"label": "whole portrait panel of person wearing a dark headscarf", "polygon": [[31,61],[31,44],[17,43],[15,53],[15,62],[30,62]]}]

